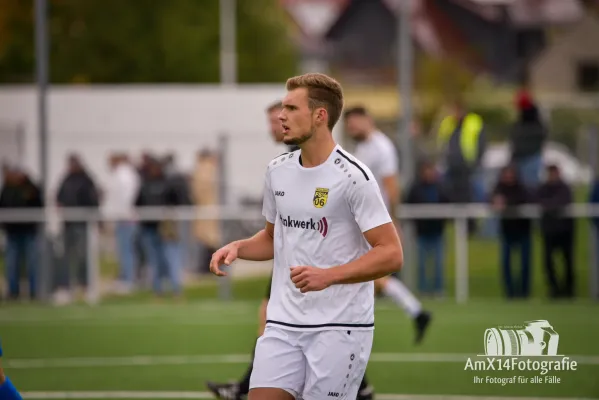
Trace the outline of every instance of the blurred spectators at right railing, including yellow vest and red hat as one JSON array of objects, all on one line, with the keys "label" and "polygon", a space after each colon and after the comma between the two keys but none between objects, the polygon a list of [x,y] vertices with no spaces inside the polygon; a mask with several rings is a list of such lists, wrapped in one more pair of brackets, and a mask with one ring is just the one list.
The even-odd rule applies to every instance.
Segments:
[{"label": "blurred spectators at right railing, including yellow vest and red hat", "polygon": [[[456,101],[438,130],[441,168],[436,163],[421,160],[405,202],[488,203],[496,212],[496,218],[478,226],[475,220],[469,220],[468,231],[470,235],[483,235],[485,231],[497,234],[503,288],[508,298],[530,296],[533,234],[538,229],[548,296],[571,298],[575,296],[575,248],[580,238],[575,234],[574,218],[568,217],[565,210],[574,202],[575,188],[563,179],[558,165],[543,164],[548,129],[526,89],[517,93],[515,107],[517,119],[507,135],[511,157],[491,190],[485,190],[481,174],[481,160],[487,145],[484,121]],[[589,201],[599,203],[599,181],[594,184]],[[521,214],[519,206],[533,204],[540,206],[539,219]],[[599,220],[593,222],[598,237]],[[445,223],[444,219],[414,221],[422,293],[442,295],[444,291]],[[599,247],[599,242],[596,246]],[[518,260],[518,268],[513,258]]]}]

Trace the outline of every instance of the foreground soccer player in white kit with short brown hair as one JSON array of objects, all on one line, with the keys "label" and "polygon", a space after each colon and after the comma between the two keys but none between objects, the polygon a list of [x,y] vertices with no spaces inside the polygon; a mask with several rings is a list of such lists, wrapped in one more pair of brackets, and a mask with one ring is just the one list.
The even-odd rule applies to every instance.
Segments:
[{"label": "foreground soccer player in white kit with short brown hair", "polygon": [[339,83],[306,74],[287,91],[285,143],[301,150],[268,165],[265,229],[218,250],[210,269],[274,258],[250,400],[353,400],[372,348],[372,281],[401,268],[401,243],[372,172],[333,140]]}]

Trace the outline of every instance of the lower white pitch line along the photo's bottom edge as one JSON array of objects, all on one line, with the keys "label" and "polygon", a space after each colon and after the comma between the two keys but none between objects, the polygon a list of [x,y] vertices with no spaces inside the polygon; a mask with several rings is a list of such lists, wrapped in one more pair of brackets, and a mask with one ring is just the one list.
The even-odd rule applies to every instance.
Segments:
[{"label": "lower white pitch line along the photo's bottom edge", "polygon": [[[26,399],[213,399],[208,392],[23,392]],[[378,394],[380,400],[590,400],[577,397],[481,397],[454,395]]]}]

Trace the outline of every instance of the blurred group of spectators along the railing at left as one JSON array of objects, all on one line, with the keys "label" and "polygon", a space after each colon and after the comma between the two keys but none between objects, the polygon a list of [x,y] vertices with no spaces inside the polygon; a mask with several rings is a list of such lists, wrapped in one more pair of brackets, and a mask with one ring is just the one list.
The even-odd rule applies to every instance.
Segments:
[{"label": "blurred group of spectators along the railing at left", "polygon": [[[118,281],[113,288],[118,293],[131,293],[148,277],[155,294],[162,295],[166,278],[175,296],[182,291],[182,272],[186,262],[194,262],[196,271],[208,271],[208,261],[218,247],[218,221],[197,220],[193,226],[172,220],[139,221],[136,207],[206,206],[218,204],[218,156],[202,150],[191,174],[180,172],[172,155],[158,157],[145,153],[139,164],[127,154],[113,154],[109,159],[110,177],[101,187],[79,156],[67,159],[66,172],[55,196],[61,208],[102,209],[113,223],[100,223],[102,232],[110,231],[117,255]],[[44,204],[40,187],[20,168],[4,165],[0,208],[39,208]],[[27,272],[28,296],[35,298],[38,290],[40,246],[46,235],[40,224],[4,223],[5,273],[8,299],[21,296],[20,280]],[[195,260],[186,260],[188,232],[197,251]],[[57,304],[72,300],[72,288],[83,293],[88,283],[89,230],[86,222],[66,221],[60,229],[59,243],[48,243],[52,258],[52,292]],[[24,266],[25,268],[21,268]]]}]

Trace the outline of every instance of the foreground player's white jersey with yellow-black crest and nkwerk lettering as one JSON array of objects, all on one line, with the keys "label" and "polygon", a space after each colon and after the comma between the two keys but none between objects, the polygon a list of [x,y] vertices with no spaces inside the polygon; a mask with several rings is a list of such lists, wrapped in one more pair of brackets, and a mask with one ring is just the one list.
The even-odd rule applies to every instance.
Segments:
[{"label": "foreground player's white jersey with yellow-black crest and nkwerk lettering", "polygon": [[339,145],[321,165],[304,168],[301,152],[271,161],[263,214],[275,225],[267,324],[290,330],[374,327],[374,283],[333,285],[301,293],[291,267],[330,268],[370,250],[363,236],[391,222],[372,172]]}]

